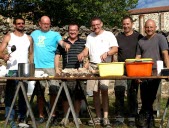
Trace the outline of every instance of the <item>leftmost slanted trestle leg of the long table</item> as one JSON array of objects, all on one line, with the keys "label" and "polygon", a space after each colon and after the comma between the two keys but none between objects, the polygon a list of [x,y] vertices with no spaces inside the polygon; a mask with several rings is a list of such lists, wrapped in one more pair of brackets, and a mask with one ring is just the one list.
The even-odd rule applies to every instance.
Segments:
[{"label": "leftmost slanted trestle leg of the long table", "polygon": [[6,118],[6,120],[5,120],[5,126],[4,126],[4,128],[6,128],[6,127],[7,127],[7,123],[8,123],[9,117],[10,117],[10,115],[11,115],[11,112],[12,112],[13,106],[14,106],[14,104],[15,104],[15,101],[16,101],[16,98],[17,98],[17,95],[18,95],[18,92],[19,92],[20,86],[21,86],[20,84],[18,84],[18,85],[17,85],[17,88],[16,88],[16,91],[15,91],[14,98],[13,98],[13,100],[12,100],[12,104],[11,104],[11,107],[10,107],[9,113],[8,113],[7,118]]}]

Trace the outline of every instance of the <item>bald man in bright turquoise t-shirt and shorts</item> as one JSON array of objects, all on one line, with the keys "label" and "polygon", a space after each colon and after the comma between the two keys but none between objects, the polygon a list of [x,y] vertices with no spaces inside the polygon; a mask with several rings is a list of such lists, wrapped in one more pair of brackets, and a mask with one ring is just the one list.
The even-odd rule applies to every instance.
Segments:
[{"label": "bald man in bright turquoise t-shirt and shorts", "polygon": [[[44,71],[49,76],[55,76],[54,58],[58,44],[60,44],[66,51],[70,48],[70,45],[62,40],[61,35],[58,32],[50,30],[51,22],[48,16],[42,16],[39,21],[40,30],[35,30],[31,33],[34,41],[34,63],[36,71]],[[40,89],[37,91],[38,110],[39,110],[39,123],[43,123],[44,120],[44,91],[46,81],[39,81],[36,84],[40,84]],[[54,104],[56,94],[59,88],[59,83],[56,80],[49,81],[49,95],[50,105]],[[40,91],[42,90],[42,91]],[[53,113],[51,123],[57,125],[55,112]]]}]

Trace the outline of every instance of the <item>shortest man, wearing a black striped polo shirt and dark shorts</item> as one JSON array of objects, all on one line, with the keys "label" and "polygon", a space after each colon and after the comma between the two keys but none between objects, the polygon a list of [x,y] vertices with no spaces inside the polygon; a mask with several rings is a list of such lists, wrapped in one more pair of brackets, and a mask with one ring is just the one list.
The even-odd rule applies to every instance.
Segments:
[{"label": "shortest man, wearing a black striped polo shirt and dark shorts", "polygon": [[[60,74],[61,72],[59,70],[60,56],[62,56],[62,69],[66,69],[66,68],[78,69],[81,67],[82,62],[78,61],[77,55],[81,53],[82,50],[84,49],[86,41],[78,37],[79,27],[77,24],[73,23],[68,26],[68,34],[69,34],[69,37],[65,39],[64,41],[71,45],[69,51],[66,52],[65,49],[62,48],[61,46],[58,46],[57,48],[56,57],[55,57],[55,69],[56,69],[57,74]],[[66,82],[66,84],[69,85],[68,89],[69,89],[69,93],[71,97],[75,98],[74,107],[75,107],[75,112],[76,112],[76,116],[78,118],[79,124],[82,124],[79,118],[79,112],[80,112],[80,107],[81,107],[81,100],[83,97],[81,94],[82,92],[81,90],[79,90],[79,87],[77,86],[77,84],[81,84],[81,83],[82,82],[76,81],[76,80]],[[69,108],[69,104],[68,104],[68,101],[67,101],[67,98],[64,92],[62,92],[62,98],[63,98],[63,111],[64,111],[64,117],[65,117],[67,110]],[[64,125],[64,122],[65,122],[65,118],[62,119],[61,125]]]}]

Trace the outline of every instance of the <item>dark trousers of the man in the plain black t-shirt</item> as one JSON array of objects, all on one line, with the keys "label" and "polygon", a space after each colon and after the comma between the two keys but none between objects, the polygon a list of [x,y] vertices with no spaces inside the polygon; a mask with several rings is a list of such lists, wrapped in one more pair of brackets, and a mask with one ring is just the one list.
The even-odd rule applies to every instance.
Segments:
[{"label": "dark trousers of the man in the plain black t-shirt", "polygon": [[138,110],[137,92],[138,83],[135,80],[116,80],[115,81],[115,107],[116,114],[124,116],[124,97],[127,88],[128,116],[135,117]]}]

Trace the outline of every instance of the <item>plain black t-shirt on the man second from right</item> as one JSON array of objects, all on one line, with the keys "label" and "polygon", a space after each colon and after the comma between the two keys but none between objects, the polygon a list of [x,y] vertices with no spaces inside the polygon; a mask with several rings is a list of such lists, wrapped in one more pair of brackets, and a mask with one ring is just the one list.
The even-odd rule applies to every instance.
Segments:
[{"label": "plain black t-shirt on the man second from right", "polygon": [[117,35],[118,42],[118,61],[125,62],[125,59],[131,59],[136,57],[136,49],[138,40],[143,36],[134,31],[132,35],[126,36],[124,33]]}]

